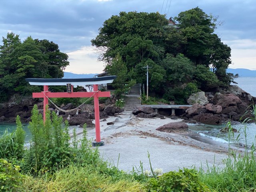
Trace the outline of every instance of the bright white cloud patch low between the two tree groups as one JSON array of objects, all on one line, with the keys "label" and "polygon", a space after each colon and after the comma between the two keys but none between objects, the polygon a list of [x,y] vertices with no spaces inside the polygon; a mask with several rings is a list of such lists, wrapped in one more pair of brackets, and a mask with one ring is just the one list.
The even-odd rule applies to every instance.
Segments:
[{"label": "bright white cloud patch low between the two tree groups", "polygon": [[66,67],[66,72],[101,73],[104,69],[104,62],[97,61],[98,56],[92,46],[83,46],[79,50],[67,54],[70,65]]}]

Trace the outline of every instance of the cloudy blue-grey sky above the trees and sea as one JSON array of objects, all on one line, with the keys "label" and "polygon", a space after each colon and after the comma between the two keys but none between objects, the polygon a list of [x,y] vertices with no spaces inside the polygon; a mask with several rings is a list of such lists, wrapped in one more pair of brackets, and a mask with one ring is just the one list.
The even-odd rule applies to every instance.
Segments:
[{"label": "cloudy blue-grey sky above the trees and sea", "polygon": [[[120,11],[161,12],[163,2],[170,0],[1,0],[0,36],[12,31],[22,40],[48,39],[68,54],[65,71],[100,73],[104,63],[97,61],[90,40],[103,22]],[[230,68],[256,70],[256,1],[171,0],[167,18],[196,6],[223,22],[216,33],[232,49]]]}]

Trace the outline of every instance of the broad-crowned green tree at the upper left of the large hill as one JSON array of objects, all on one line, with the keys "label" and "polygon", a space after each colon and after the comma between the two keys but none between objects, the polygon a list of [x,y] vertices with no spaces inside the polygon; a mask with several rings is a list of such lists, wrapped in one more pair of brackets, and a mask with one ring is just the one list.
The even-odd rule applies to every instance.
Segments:
[{"label": "broad-crowned green tree at the upper left of the large hill", "polygon": [[119,53],[126,62],[126,46],[131,40],[141,38],[152,40],[154,44],[154,37],[163,33],[161,26],[167,24],[168,20],[159,13],[120,12],[119,16],[112,16],[103,23],[91,42],[100,52],[100,60],[110,62]]}]

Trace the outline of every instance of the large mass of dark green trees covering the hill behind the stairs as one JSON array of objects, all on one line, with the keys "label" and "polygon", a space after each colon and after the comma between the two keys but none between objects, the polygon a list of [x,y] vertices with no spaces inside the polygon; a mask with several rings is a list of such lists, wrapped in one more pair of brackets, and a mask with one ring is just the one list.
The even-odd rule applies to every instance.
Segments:
[{"label": "large mass of dark green trees covering the hill behind the stairs", "polygon": [[[217,17],[196,7],[173,18],[168,25],[164,15],[146,12],[120,12],[103,23],[92,39],[105,70],[120,76],[120,83],[146,83],[158,97],[186,103],[190,94],[228,86],[234,76],[226,73],[231,49],[214,30]],[[118,70],[117,70],[118,69]]]}]

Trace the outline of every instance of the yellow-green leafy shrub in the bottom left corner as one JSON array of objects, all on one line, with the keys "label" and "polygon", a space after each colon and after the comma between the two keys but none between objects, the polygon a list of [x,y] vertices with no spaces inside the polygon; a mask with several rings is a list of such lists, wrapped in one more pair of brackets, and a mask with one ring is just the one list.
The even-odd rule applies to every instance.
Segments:
[{"label": "yellow-green leafy shrub in the bottom left corner", "polygon": [[20,174],[20,166],[12,165],[7,160],[0,159],[0,191],[21,191],[20,186],[24,175]]}]

